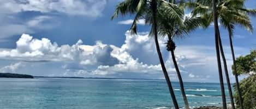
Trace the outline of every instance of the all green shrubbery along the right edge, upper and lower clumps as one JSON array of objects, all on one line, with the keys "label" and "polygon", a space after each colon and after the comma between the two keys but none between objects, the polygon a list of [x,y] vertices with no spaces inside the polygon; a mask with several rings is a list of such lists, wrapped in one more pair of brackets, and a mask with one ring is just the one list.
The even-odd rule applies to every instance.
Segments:
[{"label": "all green shrubbery along the right edge, upper and lower clumps", "polygon": [[[246,56],[240,56],[236,59],[237,74],[248,74],[249,72],[256,72],[256,50],[253,50]],[[234,66],[232,66],[234,70]],[[240,108],[237,87],[235,86],[235,101],[238,108]],[[256,75],[249,75],[248,78],[240,82],[240,90],[243,98],[243,106],[245,109],[256,109]]]}]

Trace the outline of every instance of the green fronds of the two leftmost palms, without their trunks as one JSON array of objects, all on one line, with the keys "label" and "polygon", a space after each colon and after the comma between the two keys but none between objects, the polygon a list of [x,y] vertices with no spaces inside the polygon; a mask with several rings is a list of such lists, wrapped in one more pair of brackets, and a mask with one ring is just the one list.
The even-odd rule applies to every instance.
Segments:
[{"label": "green fronds of the two leftmost palms, without their trunks", "polygon": [[[176,1],[177,2],[177,1]],[[181,37],[188,34],[190,31],[202,26],[205,19],[201,17],[184,17],[183,3],[166,2],[157,0],[157,29],[161,36]],[[150,2],[146,0],[126,0],[117,5],[112,18],[118,15],[135,14],[133,24],[130,28],[133,34],[137,33],[136,22],[144,18],[146,24],[153,27],[152,11]],[[202,26],[203,27],[203,26]],[[154,33],[154,28],[151,28],[150,35]]]}]

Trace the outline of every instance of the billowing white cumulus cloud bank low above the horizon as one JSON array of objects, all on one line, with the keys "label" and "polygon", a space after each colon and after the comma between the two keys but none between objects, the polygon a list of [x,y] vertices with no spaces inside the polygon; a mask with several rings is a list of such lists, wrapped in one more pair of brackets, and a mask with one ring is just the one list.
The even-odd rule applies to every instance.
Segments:
[{"label": "billowing white cumulus cloud bank low above the horizon", "polygon": [[[163,79],[152,37],[142,33],[131,35],[129,31],[125,35],[126,40],[121,47],[117,47],[100,41],[87,45],[81,40],[72,45],[58,45],[50,39],[34,39],[31,35],[22,34],[16,41],[16,48],[0,49],[0,59],[17,61],[2,66],[1,70],[19,72],[27,68],[26,72],[29,72],[30,65],[34,69],[37,68],[35,66],[46,68],[48,73],[58,76]],[[171,79],[177,80],[170,53],[165,50],[165,42],[165,39],[159,40],[165,66]],[[217,78],[214,47],[178,46],[175,53],[184,80],[207,81]],[[25,65],[21,62],[26,66],[20,67]],[[231,66],[230,60],[228,65]],[[44,75],[43,71],[37,73]]]}]

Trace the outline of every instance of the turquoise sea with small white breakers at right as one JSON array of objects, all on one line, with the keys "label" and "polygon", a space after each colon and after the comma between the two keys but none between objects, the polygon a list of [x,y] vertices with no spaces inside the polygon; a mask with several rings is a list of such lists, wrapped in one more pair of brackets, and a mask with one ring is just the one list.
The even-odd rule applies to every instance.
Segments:
[{"label": "turquoise sea with small white breakers at right", "polygon": [[[178,82],[172,85],[182,107]],[[184,86],[190,106],[221,105],[219,84],[185,82]],[[0,78],[0,97],[1,109],[160,109],[173,106],[162,80]]]}]

